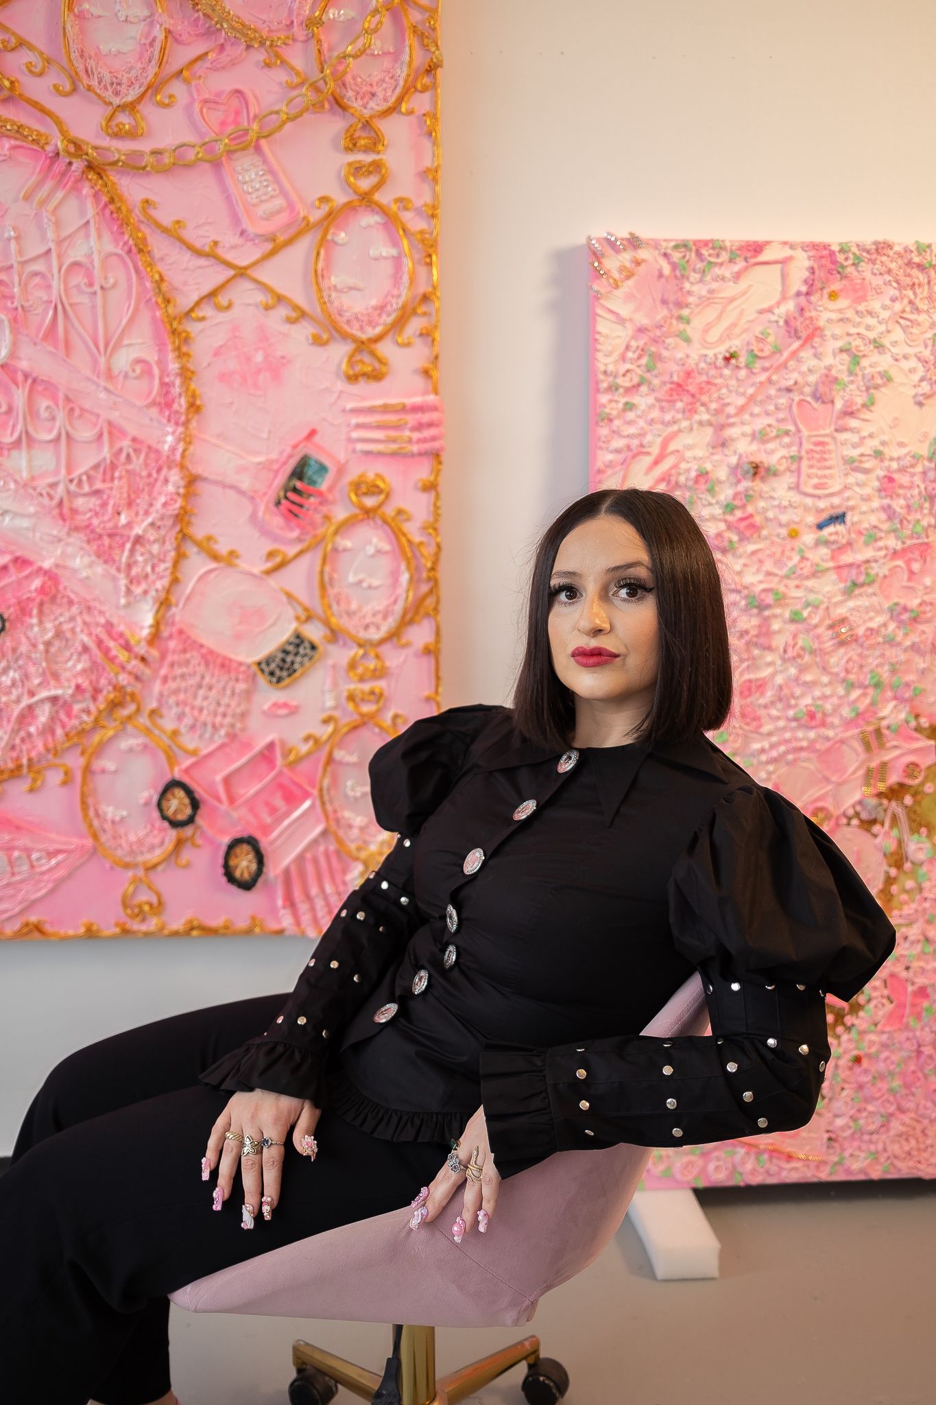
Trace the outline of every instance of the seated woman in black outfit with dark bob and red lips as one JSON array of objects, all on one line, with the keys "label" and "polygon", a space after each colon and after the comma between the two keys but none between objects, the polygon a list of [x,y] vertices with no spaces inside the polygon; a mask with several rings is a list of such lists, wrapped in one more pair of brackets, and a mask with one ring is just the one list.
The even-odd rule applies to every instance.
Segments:
[{"label": "seated woman in black outfit with dark bob and red lips", "polygon": [[[703,735],[730,702],[689,511],[571,503],[512,711],[448,708],[375,753],[396,844],[293,992],[102,1040],[36,1094],[3,1184],[7,1397],[168,1405],[166,1294],[196,1277],[394,1207],[495,1234],[500,1182],[554,1151],[803,1127],[824,993],[852,999],[894,927]],[[693,969],[711,1035],[634,1033]]]}]

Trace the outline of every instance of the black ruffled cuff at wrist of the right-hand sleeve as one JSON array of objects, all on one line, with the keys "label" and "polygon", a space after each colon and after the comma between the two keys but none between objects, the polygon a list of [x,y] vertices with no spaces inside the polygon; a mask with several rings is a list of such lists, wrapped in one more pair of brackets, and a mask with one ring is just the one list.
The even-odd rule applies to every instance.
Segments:
[{"label": "black ruffled cuff at wrist of the right-hand sleeve", "polygon": [[494,1156],[543,1159],[557,1151],[546,1083],[546,1050],[488,1044],[481,1050],[481,1106]]}]

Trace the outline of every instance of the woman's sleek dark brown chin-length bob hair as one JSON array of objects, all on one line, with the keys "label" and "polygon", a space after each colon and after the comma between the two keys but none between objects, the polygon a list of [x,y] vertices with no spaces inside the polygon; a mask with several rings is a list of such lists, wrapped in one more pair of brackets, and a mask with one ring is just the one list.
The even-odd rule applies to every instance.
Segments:
[{"label": "woman's sleek dark brown chin-length bob hair", "polygon": [[615,514],[643,538],[654,573],[658,620],[657,687],[631,739],[685,742],[723,726],[731,708],[731,653],[721,577],[704,532],[671,493],[606,488],[585,493],[536,545],[526,649],[514,687],[514,725],[537,746],[561,752],[575,722],[571,688],[560,683],[549,646],[549,579],[564,537]]}]

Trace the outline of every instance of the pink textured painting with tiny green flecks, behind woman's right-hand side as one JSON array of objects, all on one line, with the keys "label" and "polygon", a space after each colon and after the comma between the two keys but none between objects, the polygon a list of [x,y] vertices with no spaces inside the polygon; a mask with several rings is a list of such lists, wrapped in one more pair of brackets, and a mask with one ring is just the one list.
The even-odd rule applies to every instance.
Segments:
[{"label": "pink textured painting with tiny green flecks, behind woman's right-hand side", "polygon": [[936,1175],[936,270],[929,244],[591,236],[591,486],[676,495],[718,562],[713,736],[848,854],[898,932],[828,998],[782,1135],[660,1149],[646,1189]]}]

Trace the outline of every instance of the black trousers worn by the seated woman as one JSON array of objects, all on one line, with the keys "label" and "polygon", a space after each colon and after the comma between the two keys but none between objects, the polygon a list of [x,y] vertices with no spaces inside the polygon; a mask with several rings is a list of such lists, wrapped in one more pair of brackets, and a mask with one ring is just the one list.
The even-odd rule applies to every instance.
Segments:
[{"label": "black trousers worn by the seated woman", "polygon": [[285,1000],[156,1020],[49,1073],[0,1180],[4,1401],[149,1405],[170,1390],[167,1293],[352,1220],[400,1207],[406,1222],[448,1145],[382,1141],[328,1109],[313,1162],[286,1145],[272,1220],[241,1229],[239,1180],[212,1210],[216,1177],[202,1182],[201,1158],[230,1093],[198,1073]]}]

